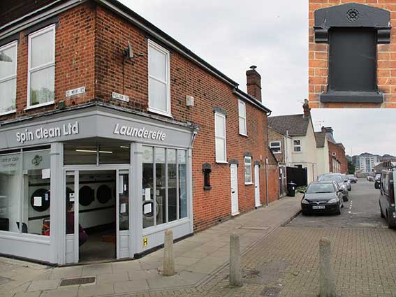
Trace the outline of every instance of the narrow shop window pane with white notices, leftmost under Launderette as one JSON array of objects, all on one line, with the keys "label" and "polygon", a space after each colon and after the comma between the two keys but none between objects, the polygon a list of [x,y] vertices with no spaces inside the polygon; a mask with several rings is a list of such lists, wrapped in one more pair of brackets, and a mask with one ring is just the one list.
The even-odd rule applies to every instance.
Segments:
[{"label": "narrow shop window pane with white notices, leftmost under Launderette", "polygon": [[143,155],[142,155],[143,228],[154,226],[153,197],[154,197],[153,148],[143,147]]}]

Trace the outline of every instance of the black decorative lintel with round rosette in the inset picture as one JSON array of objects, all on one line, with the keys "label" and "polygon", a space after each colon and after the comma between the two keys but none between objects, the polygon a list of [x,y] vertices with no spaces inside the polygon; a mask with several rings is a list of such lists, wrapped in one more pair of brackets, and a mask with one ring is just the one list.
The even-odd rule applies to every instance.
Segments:
[{"label": "black decorative lintel with round rosette in the inset picture", "polygon": [[346,3],[315,10],[315,42],[328,43],[328,32],[335,27],[373,28],[376,43],[390,43],[390,12],[359,3]]}]

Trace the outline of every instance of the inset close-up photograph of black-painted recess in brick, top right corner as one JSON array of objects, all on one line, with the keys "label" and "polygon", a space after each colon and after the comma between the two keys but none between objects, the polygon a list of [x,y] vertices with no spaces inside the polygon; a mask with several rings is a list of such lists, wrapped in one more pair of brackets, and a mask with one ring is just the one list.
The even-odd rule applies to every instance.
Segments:
[{"label": "inset close-up photograph of black-painted recess in brick, top right corner", "polygon": [[395,108],[396,1],[349,2],[309,0],[309,105]]}]

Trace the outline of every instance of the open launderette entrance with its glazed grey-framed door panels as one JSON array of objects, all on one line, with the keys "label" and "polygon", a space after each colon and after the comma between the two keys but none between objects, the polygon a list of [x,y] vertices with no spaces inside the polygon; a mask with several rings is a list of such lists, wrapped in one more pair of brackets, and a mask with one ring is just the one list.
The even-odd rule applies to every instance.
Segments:
[{"label": "open launderette entrance with its glazed grey-framed door panels", "polygon": [[131,257],[129,170],[66,171],[66,263]]}]

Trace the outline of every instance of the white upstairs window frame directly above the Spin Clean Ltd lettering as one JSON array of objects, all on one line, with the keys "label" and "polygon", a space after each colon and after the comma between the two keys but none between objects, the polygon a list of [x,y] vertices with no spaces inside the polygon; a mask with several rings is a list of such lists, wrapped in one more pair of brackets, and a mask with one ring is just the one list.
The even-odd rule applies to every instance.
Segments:
[{"label": "white upstairs window frame directly above the Spin Clean Ltd lettering", "polygon": [[[54,43],[53,43],[53,47],[54,47],[53,54],[54,54],[54,56],[52,58],[52,61],[48,62],[47,64],[43,64],[43,65],[31,68],[31,39],[36,37],[36,36],[45,34],[45,33],[49,32],[49,31],[52,31],[53,41],[54,41]],[[31,73],[43,70],[45,68],[50,68],[52,66],[55,66],[55,44],[56,44],[56,42],[55,42],[55,24],[51,24],[48,27],[45,27],[45,28],[40,29],[38,31],[34,31],[33,33],[29,34],[28,51],[27,51],[27,108],[25,108],[25,109],[39,108],[41,106],[48,106],[48,105],[54,104],[54,102],[55,102],[54,100],[52,100],[52,101],[49,101],[49,102],[36,104],[34,106],[31,106],[31,104],[30,104],[30,77],[31,77]],[[55,75],[55,72],[54,72],[54,75]],[[55,78],[54,78],[54,83],[55,83]]]}]

